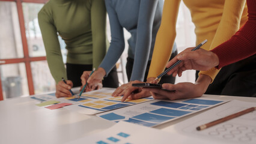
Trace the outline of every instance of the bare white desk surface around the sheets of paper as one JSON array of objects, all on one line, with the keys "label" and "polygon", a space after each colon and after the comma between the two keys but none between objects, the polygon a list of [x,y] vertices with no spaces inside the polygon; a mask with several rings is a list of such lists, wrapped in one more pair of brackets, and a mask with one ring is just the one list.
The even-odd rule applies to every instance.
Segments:
[{"label": "bare white desk surface around the sheets of paper", "polygon": [[[218,100],[255,102],[256,98],[203,95]],[[0,101],[0,143],[65,143],[114,125],[95,115],[82,115],[66,109],[49,110],[35,106],[29,97]],[[199,112],[202,113],[202,112]],[[158,125],[162,129],[192,116]]]}]

